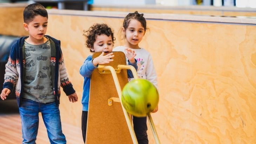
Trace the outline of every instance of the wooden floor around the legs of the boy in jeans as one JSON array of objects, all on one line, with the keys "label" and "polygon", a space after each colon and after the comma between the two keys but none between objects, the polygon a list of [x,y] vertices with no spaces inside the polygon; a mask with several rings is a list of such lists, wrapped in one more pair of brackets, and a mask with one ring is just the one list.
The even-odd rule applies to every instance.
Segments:
[{"label": "wooden floor around the legs of the boy in jeans", "polygon": [[[81,128],[62,122],[62,131],[67,144],[83,144]],[[0,144],[22,143],[21,120],[16,100],[0,101]],[[41,115],[37,144],[49,144],[47,131]]]}]

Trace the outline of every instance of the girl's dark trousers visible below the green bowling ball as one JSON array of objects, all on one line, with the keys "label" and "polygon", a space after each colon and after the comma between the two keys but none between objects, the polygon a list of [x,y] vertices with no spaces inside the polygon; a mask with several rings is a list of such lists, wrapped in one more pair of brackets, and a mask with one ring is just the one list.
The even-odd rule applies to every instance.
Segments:
[{"label": "girl's dark trousers visible below the green bowling ball", "polygon": [[133,116],[133,128],[139,144],[148,144],[147,117]]}]

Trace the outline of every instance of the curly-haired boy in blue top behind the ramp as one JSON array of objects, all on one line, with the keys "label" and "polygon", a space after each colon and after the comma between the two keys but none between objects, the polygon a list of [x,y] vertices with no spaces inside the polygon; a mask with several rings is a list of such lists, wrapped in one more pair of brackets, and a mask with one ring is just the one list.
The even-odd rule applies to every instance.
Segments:
[{"label": "curly-haired boy in blue top behind the ramp", "polygon": [[[86,129],[87,129],[87,115],[88,115],[88,104],[89,104],[89,92],[90,92],[90,80],[93,70],[97,68],[99,64],[106,64],[114,57],[112,50],[114,46],[114,33],[113,30],[106,24],[95,24],[85,32],[86,46],[90,49],[90,52],[102,52],[102,54],[95,59],[92,56],[88,56],[83,65],[80,68],[80,74],[84,77],[83,82],[83,97],[82,97],[82,136],[83,142],[85,143]],[[104,55],[104,53],[106,55]],[[137,60],[134,59],[136,56],[134,50],[127,48],[125,55],[128,59],[128,64],[132,65],[136,70],[138,69]],[[127,70],[128,78],[133,78],[131,70]]]}]

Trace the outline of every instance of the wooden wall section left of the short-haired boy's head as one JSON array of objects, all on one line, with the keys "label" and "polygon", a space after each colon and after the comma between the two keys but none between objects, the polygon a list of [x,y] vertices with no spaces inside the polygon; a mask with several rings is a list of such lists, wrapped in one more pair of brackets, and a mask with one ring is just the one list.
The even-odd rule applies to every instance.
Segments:
[{"label": "wooden wall section left of the short-haired boy's head", "polygon": [[25,36],[28,32],[23,28],[23,7],[0,7],[0,34]]}]

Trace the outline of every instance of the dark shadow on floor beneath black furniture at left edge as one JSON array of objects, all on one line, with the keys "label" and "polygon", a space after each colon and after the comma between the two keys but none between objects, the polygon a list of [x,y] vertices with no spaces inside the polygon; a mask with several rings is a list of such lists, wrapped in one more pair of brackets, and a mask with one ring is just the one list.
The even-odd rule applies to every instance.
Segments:
[{"label": "dark shadow on floor beneath black furniture at left edge", "polygon": [[19,114],[19,108],[16,99],[14,100],[0,100],[0,115]]}]

